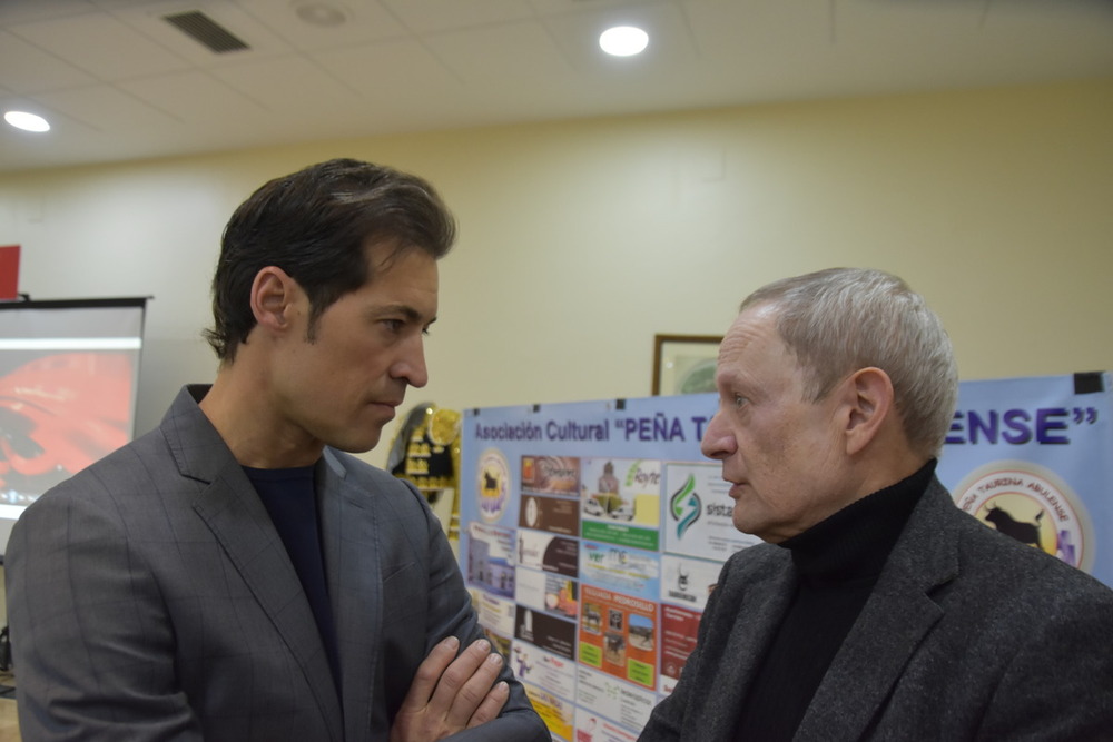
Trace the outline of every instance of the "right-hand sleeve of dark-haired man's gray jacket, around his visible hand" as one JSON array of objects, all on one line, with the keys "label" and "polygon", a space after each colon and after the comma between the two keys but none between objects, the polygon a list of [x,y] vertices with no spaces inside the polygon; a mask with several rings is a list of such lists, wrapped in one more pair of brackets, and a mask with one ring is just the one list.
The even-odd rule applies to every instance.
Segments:
[{"label": "right-hand sleeve of dark-haired man's gray jacket, around his visible hand", "polygon": [[[408,485],[408,483],[407,483]],[[424,497],[415,492],[424,503]],[[430,565],[429,565],[429,625],[426,626],[425,652],[427,652],[450,635],[460,639],[466,646],[477,639],[483,639],[483,627],[479,623],[475,610],[472,607],[471,595],[464,586],[463,575],[456,564],[452,547],[444,535],[436,516],[425,507],[426,527],[429,528]],[[551,742],[552,735],[533,710],[525,689],[514,677],[509,657],[503,657],[500,680],[510,686],[510,698],[499,718],[477,726],[445,738],[453,742]]]}]

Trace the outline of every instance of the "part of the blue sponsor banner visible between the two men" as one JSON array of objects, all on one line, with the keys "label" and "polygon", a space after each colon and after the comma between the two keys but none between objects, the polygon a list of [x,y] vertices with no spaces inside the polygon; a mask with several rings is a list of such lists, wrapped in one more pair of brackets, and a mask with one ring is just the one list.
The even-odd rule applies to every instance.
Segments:
[{"label": "part of the blue sponsor banner visible between the two men", "polygon": [[464,413],[463,572],[556,740],[637,739],[695,645],[721,561],[751,543],[699,451],[716,405],[695,395]]}]

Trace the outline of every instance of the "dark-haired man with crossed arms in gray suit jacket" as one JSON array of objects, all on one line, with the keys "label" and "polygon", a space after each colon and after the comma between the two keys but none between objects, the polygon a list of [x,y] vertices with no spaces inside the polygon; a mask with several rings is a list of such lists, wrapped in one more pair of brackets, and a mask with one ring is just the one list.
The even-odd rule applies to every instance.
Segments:
[{"label": "dark-haired man with crossed arms in gray suit jacket", "polygon": [[424,498],[349,455],[426,383],[453,237],[429,184],[356,160],[236,210],[213,385],[12,531],[24,740],[549,739]]}]

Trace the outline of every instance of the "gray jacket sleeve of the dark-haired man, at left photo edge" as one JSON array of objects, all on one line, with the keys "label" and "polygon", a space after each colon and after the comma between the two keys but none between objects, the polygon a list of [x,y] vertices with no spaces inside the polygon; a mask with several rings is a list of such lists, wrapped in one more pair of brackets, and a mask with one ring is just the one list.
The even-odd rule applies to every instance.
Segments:
[{"label": "gray jacket sleeve of the dark-haired man, at left photo edge", "polygon": [[201,739],[158,586],[114,514],[72,489],[42,496],[4,571],[24,742]]}]

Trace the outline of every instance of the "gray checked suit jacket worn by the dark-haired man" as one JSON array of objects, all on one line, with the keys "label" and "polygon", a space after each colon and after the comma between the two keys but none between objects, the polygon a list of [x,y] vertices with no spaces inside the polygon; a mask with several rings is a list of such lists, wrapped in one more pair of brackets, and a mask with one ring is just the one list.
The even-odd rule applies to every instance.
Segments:
[{"label": "gray checked suit jacket worn by the dark-haired man", "polygon": [[[23,740],[386,740],[417,665],[482,635],[440,523],[406,483],[316,467],[341,696],[280,537],[183,389],[161,425],[31,505],[7,551]],[[509,664],[509,663],[508,663]],[[460,740],[548,740],[509,667]]]}]

